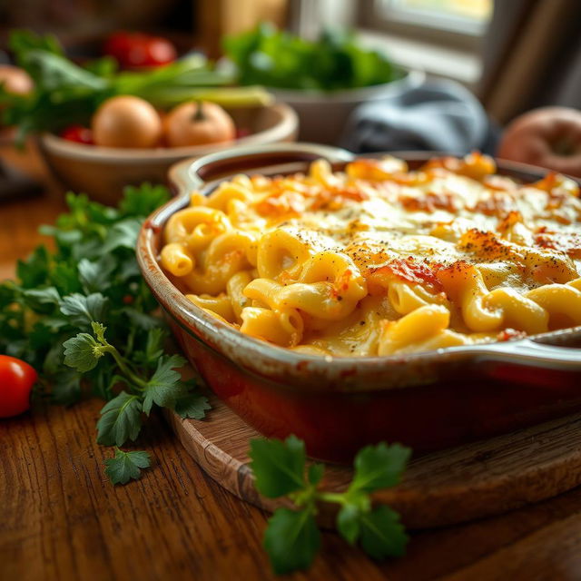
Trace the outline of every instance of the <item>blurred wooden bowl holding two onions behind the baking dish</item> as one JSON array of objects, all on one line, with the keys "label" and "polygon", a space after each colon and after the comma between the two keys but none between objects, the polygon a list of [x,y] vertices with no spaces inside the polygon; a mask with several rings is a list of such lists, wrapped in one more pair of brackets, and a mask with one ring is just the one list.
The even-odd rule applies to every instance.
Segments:
[{"label": "blurred wooden bowl holding two onions behind the baking dish", "polygon": [[164,183],[169,168],[183,159],[242,144],[286,143],[297,138],[297,114],[285,103],[226,109],[236,126],[248,128],[250,135],[218,145],[140,150],[85,145],[61,139],[53,133],[44,133],[39,138],[40,150],[48,166],[67,189],[84,192],[98,202],[113,205],[121,197],[125,185]]}]

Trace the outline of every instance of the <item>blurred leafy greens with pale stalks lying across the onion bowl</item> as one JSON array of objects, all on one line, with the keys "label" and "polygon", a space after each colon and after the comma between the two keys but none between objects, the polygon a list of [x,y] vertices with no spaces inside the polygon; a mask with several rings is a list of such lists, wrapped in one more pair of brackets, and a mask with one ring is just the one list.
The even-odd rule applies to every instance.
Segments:
[{"label": "blurred leafy greens with pale stalks lying across the onion bowl", "polygon": [[200,54],[143,73],[118,72],[111,57],[84,66],[74,64],[52,35],[15,30],[8,44],[16,64],[34,81],[29,95],[10,94],[0,84],[0,121],[17,126],[18,143],[28,133],[88,124],[97,107],[116,94],[136,95],[160,108],[193,100],[240,106],[270,101],[270,95],[256,87],[224,87],[233,77],[215,69]]}]

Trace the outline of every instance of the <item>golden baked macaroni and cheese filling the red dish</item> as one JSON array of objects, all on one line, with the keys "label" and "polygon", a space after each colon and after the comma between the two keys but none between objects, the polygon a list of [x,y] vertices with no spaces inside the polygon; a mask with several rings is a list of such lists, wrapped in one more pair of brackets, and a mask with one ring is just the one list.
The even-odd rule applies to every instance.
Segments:
[{"label": "golden baked macaroni and cheese filling the red dish", "polygon": [[549,173],[520,184],[472,153],[409,171],[238,175],[192,194],[161,264],[242,333],[304,353],[385,356],[581,324],[581,201]]}]

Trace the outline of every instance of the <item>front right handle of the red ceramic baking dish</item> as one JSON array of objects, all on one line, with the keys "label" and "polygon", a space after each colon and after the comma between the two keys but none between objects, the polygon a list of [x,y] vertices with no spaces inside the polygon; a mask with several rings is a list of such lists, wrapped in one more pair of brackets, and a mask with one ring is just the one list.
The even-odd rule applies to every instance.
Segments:
[{"label": "front right handle of the red ceramic baking dish", "polygon": [[490,343],[478,349],[478,359],[560,371],[581,371],[581,349],[529,339]]}]

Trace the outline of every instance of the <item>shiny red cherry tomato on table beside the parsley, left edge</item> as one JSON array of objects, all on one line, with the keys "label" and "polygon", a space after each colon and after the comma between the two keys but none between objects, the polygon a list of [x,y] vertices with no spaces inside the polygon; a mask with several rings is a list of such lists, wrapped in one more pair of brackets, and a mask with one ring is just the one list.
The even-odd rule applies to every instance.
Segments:
[{"label": "shiny red cherry tomato on table beside the parsley, left edge", "polygon": [[12,418],[30,408],[30,392],[37,378],[25,361],[0,355],[0,418]]}]

